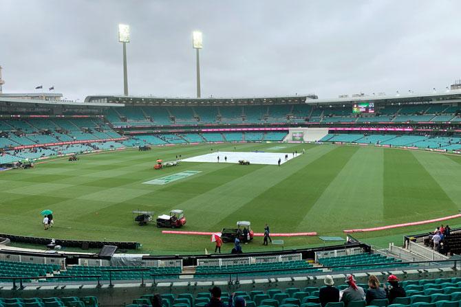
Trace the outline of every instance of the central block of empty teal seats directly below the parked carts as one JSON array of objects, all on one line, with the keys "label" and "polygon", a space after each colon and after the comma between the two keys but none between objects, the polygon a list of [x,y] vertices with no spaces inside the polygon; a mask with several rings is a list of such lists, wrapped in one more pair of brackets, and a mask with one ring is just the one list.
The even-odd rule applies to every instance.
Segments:
[{"label": "central block of empty teal seats directly below the parked carts", "polygon": [[[272,262],[272,263],[258,263],[258,264],[238,264],[227,266],[197,266],[196,273],[212,273],[206,275],[209,277],[226,277],[229,272],[247,272],[239,273],[239,276],[255,276],[255,275],[281,275],[281,274],[300,274],[318,271],[312,269],[313,265],[305,260],[293,260],[287,262]],[[283,270],[290,271],[283,271]],[[252,272],[254,271],[254,272]],[[263,272],[260,272],[263,271]],[[196,275],[195,277],[200,277]]]}]

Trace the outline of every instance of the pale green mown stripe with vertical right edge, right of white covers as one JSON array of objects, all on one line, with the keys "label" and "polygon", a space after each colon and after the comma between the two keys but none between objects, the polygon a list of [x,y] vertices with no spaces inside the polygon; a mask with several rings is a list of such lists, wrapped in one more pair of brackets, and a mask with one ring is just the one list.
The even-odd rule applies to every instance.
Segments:
[{"label": "pale green mown stripe with vertical right edge, right of white covers", "polygon": [[383,148],[347,150],[334,157],[336,177],[305,217],[306,224],[323,233],[333,233],[332,225],[368,227],[383,220]]}]

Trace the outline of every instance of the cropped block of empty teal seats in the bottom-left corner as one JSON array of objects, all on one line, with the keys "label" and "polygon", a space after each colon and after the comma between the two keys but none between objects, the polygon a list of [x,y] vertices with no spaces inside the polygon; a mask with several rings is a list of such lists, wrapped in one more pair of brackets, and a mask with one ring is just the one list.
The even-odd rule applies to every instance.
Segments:
[{"label": "cropped block of empty teal seats in the bottom-left corner", "polygon": [[98,297],[0,297],[0,307],[98,307]]}]

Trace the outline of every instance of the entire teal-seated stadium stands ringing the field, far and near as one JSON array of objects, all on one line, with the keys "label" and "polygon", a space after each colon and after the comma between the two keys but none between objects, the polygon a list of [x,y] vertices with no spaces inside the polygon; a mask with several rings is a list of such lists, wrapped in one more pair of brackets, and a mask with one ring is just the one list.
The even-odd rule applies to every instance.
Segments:
[{"label": "entire teal-seated stadium stands ringing the field, far and near", "polygon": [[[88,96],[84,102],[70,102],[61,97],[0,95],[2,168],[144,146],[226,143],[312,142],[461,152],[461,90],[330,100],[315,95]],[[296,136],[299,131],[301,138]],[[133,254],[44,253],[30,247],[47,245],[47,238],[2,234],[5,242],[27,248],[8,244],[0,248],[0,306],[155,306],[153,293],[160,293],[163,307],[204,307],[211,299],[208,288],[219,286],[224,302],[235,293],[246,306],[320,307],[325,275],[332,275],[342,290],[350,273],[365,289],[370,274],[380,280],[398,276],[407,295],[392,306],[421,307],[422,302],[425,307],[458,306],[460,263],[450,258],[460,250],[457,231],[453,229],[446,247],[438,251],[424,233],[409,234],[403,247],[389,244],[385,249],[347,234],[340,245],[222,256],[139,254],[140,242],[103,240],[54,244],[78,249],[113,245]]]}]

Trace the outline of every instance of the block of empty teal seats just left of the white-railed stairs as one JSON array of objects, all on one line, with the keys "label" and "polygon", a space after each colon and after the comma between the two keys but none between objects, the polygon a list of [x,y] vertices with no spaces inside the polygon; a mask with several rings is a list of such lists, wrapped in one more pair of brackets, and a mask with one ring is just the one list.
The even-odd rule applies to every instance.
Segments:
[{"label": "block of empty teal seats just left of the white-railed stairs", "polygon": [[[345,255],[339,257],[321,258],[319,264],[323,266],[339,266],[331,268],[332,271],[347,271],[347,270],[361,270],[361,269],[379,269],[389,267],[400,267],[408,266],[409,264],[389,264],[385,263],[402,262],[402,260],[396,260],[395,258],[387,258],[384,255],[378,253],[361,253],[358,255]],[[357,266],[357,264],[369,264],[365,266]],[[378,265],[381,264],[381,265]]]}]

